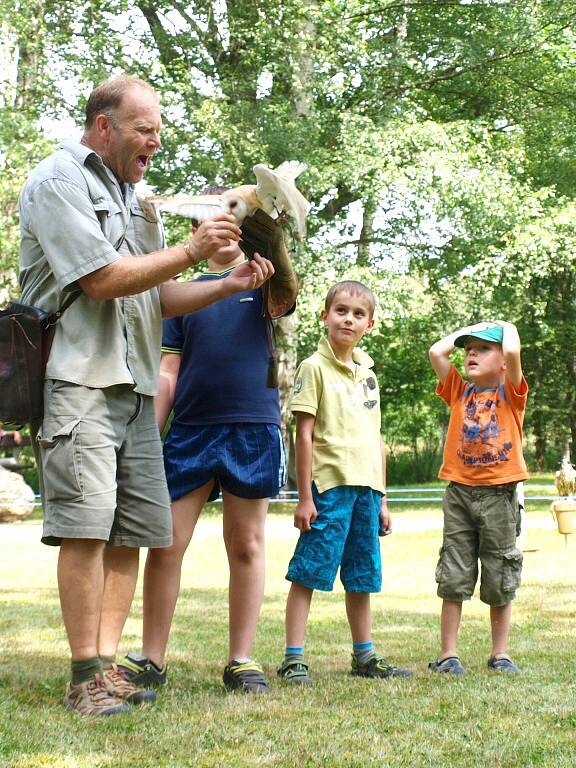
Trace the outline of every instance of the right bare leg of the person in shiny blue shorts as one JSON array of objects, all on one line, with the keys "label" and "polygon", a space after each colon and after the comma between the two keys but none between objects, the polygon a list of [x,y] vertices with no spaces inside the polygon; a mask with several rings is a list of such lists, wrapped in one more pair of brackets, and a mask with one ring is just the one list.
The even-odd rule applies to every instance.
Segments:
[{"label": "right bare leg of the person in shiny blue shorts", "polygon": [[224,544],[230,567],[229,659],[250,658],[264,597],[264,529],[268,499],[223,491]]}]

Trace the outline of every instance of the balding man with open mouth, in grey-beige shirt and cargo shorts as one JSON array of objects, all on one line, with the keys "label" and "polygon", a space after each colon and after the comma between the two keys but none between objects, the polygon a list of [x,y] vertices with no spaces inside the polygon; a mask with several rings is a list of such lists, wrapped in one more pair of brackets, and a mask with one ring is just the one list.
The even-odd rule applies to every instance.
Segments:
[{"label": "balding man with open mouth, in grey-beige shirt and cargo shorts", "polygon": [[80,143],[32,172],[20,197],[22,301],[52,312],[71,292],[46,370],[44,417],[33,425],[44,505],[42,540],[60,545],[58,586],[72,654],[64,703],[111,715],[153,700],[119,674],[116,647],[136,585],[139,547],[172,541],[154,418],[161,320],[262,285],[258,255],[225,279],[175,275],[234,246],[233,217],[165,247],[155,210],[134,185],[160,148],[158,97],[111,78],[86,106]]}]

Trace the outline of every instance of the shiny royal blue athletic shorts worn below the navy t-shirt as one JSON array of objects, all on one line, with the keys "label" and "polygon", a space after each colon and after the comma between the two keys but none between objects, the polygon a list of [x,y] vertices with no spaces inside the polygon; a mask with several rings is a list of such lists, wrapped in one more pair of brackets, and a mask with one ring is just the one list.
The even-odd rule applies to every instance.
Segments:
[{"label": "shiny royal blue athletic shorts worn below the navy t-shirt", "polygon": [[172,424],[164,441],[164,468],[172,501],[214,480],[241,499],[276,496],[286,482],[286,457],[276,424]]}]

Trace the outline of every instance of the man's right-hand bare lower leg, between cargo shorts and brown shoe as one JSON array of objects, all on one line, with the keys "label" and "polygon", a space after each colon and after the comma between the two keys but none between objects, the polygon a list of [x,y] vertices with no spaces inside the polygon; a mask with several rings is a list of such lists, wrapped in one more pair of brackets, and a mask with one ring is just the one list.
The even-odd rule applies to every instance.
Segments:
[{"label": "man's right-hand bare lower leg, between cargo shorts and brown shoe", "polygon": [[138,581],[138,547],[104,548],[104,593],[98,628],[98,654],[114,657]]}]

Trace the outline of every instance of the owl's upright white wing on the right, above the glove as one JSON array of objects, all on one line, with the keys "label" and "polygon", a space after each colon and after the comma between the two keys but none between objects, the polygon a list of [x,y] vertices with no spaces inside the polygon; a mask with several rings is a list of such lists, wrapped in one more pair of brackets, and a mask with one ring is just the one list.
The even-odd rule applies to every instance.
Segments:
[{"label": "owl's upright white wing on the right, above the glove", "polygon": [[[302,163],[290,161],[282,163],[278,169],[272,170],[265,165],[254,166],[256,175],[256,194],[262,201],[263,210],[270,216],[278,216],[286,213],[294,222],[295,234],[301,239],[306,232],[306,215],[310,210],[310,203],[296,188],[294,179],[306,166]],[[299,169],[297,169],[299,167]]]}]

